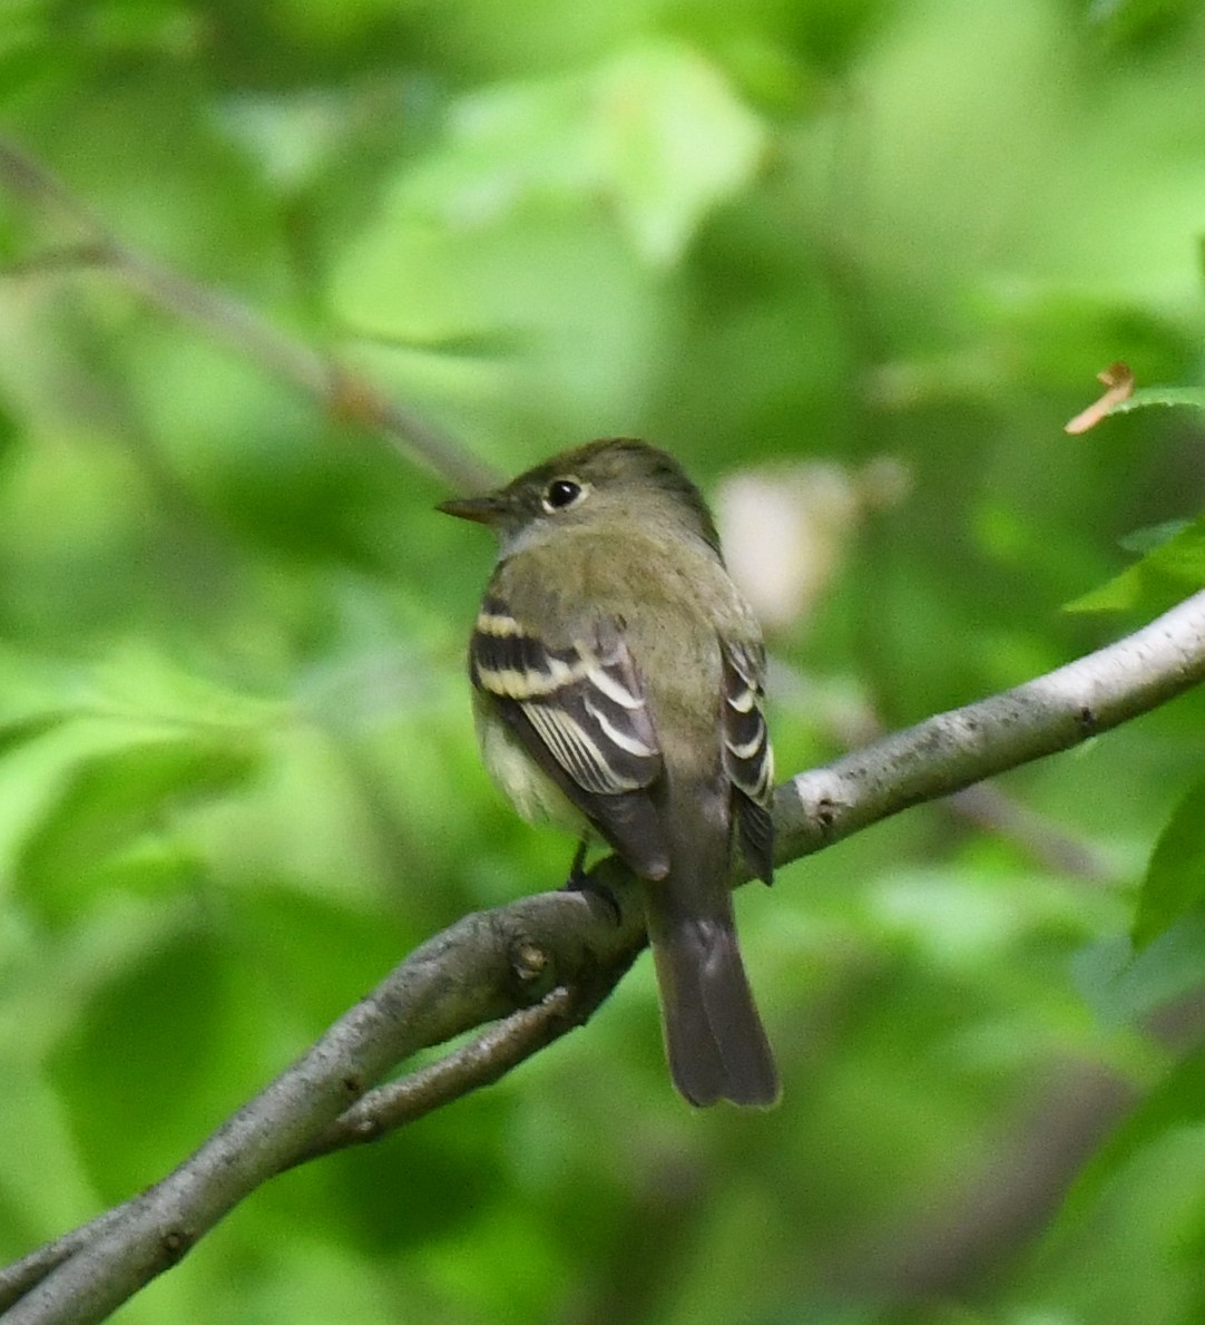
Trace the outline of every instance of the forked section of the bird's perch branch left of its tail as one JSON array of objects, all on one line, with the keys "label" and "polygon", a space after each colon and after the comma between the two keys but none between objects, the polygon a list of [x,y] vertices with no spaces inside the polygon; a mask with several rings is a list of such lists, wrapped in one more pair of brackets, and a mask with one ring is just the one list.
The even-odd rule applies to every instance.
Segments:
[{"label": "forked section of the bird's perch branch left of its tail", "polygon": [[[441,1086],[450,1098],[497,1079],[585,1020],[644,946],[633,881],[612,859],[596,873],[613,904],[593,892],[542,893],[466,916],[424,943],[179,1169],[0,1272],[7,1325],[103,1320],[267,1178],[310,1154],[368,1140],[391,1117],[421,1116],[444,1102]],[[548,991],[543,1016],[534,1014]],[[405,1092],[365,1096],[418,1049],[516,1007],[518,1016],[475,1049],[407,1083],[409,1109],[399,1104]]]}]

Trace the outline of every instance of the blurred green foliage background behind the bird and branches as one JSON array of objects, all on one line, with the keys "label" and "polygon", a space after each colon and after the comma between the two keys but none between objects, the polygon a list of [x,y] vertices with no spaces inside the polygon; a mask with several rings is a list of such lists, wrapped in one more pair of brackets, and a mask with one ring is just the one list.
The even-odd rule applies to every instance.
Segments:
[{"label": "blurred green foliage background behind the bird and branches", "polygon": [[[1190,0],[0,20],[5,135],[139,252],[505,473],[592,436],[677,453],[767,590],[784,775],[1140,624],[1063,607],[1202,505],[1197,413],[1062,432],[1112,360],[1200,380]],[[3,1260],[568,861],[478,765],[491,549],[433,513],[448,485],[53,260],[79,237],[0,195]],[[1127,938],[1202,757],[1188,696],[1002,779],[987,827],[915,810],[744,889],[777,1112],[678,1101],[642,961],[117,1318],[1205,1318],[1205,1063],[1144,1023],[1205,924]]]}]

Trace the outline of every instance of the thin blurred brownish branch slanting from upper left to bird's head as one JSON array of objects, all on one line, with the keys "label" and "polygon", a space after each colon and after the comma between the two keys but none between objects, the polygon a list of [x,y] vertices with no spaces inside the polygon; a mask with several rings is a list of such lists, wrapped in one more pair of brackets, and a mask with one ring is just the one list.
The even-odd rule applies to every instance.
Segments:
[{"label": "thin blurred brownish branch slanting from upper left to bird's head", "polygon": [[123,244],[62,180],[4,138],[0,138],[0,187],[68,221],[82,235],[78,242],[11,265],[8,274],[101,269],[152,307],[192,323],[264,372],[282,378],[330,417],[380,432],[404,456],[446,478],[453,488],[481,492],[497,486],[498,474],[489,465],[417,411],[391,400],[323,351],[291,339],[237,299]]}]

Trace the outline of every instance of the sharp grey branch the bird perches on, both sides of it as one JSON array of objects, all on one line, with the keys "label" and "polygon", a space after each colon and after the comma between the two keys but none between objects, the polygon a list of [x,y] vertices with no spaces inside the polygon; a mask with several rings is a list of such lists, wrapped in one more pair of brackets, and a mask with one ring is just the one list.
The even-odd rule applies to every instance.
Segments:
[{"label": "sharp grey branch the bird perches on, both sides of it", "polygon": [[[777,792],[779,860],[1065,750],[1202,678],[1205,592],[1047,676],[798,774]],[[0,1271],[5,1321],[103,1320],[274,1174],[494,1081],[585,1022],[645,943],[625,868],[606,857],[592,877],[606,901],[542,893],[467,916],[414,951],[172,1174]],[[470,1045],[372,1089],[417,1051],[499,1018]]]}]

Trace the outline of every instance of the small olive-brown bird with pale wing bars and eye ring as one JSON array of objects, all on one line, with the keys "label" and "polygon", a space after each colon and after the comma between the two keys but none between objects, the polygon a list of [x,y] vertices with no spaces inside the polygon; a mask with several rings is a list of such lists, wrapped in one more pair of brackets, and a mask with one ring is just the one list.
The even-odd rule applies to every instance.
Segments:
[{"label": "small olive-brown bird with pale wing bars and eye ring", "polygon": [[768,1106],[779,1076],[736,942],[734,840],[773,873],[761,631],[678,462],[563,452],[440,510],[498,560],[469,644],[482,758],[530,820],[601,837],[641,880],[674,1085]]}]

